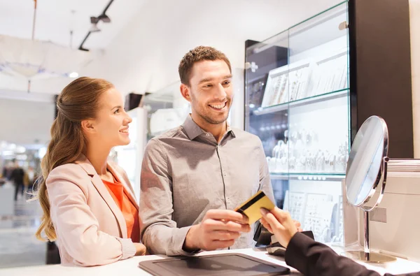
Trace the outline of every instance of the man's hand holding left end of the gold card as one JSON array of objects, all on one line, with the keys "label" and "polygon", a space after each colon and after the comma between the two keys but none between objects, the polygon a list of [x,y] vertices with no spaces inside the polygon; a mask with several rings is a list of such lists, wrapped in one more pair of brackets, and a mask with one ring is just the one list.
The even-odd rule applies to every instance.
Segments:
[{"label": "man's hand holding left end of the gold card", "polygon": [[209,210],[202,222],[190,228],[184,249],[215,250],[230,247],[241,232],[251,231],[248,217],[232,210]]}]

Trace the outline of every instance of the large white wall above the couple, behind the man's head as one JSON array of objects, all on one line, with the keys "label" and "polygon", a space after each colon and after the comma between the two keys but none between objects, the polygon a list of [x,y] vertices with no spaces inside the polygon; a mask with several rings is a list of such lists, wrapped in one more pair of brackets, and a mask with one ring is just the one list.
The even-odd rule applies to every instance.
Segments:
[{"label": "large white wall above the couple, behind the man's head", "polygon": [[[339,0],[148,1],[88,66],[89,75],[111,80],[122,92],[153,92],[179,79],[178,64],[188,50],[211,45],[228,55],[234,73],[244,68],[244,43],[262,41]],[[243,81],[235,90],[232,125],[243,127]]]}]

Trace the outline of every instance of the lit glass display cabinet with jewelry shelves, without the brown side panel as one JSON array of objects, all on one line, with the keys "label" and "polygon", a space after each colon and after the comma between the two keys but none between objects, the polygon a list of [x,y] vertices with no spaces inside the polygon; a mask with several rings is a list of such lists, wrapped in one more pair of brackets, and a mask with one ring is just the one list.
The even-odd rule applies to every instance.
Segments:
[{"label": "lit glass display cabinet with jewelry shelves, without the brown side panel", "polygon": [[350,149],[347,2],[246,41],[245,129],[262,140],[276,205],[319,242],[342,242]]}]

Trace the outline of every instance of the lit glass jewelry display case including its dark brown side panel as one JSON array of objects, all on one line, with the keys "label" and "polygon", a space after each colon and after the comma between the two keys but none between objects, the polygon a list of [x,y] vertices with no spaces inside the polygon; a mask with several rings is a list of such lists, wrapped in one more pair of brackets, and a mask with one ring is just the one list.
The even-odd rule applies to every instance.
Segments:
[{"label": "lit glass jewelry display case including its dark brown side panel", "polygon": [[262,141],[276,205],[320,242],[343,242],[341,182],[365,119],[386,119],[390,157],[413,157],[409,45],[407,0],[343,1],[245,43],[244,127]]}]

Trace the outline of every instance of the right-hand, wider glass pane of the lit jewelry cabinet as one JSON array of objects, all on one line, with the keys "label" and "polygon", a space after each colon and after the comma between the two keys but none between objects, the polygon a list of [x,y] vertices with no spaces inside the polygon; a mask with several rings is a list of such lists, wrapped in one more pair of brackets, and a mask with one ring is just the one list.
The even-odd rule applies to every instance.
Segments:
[{"label": "right-hand, wider glass pane of the lit jewelry cabinet", "polygon": [[[343,236],[341,181],[349,156],[346,20],[345,2],[289,29],[290,180],[283,208],[320,242],[342,242]],[[301,174],[300,180],[294,174]]]}]

